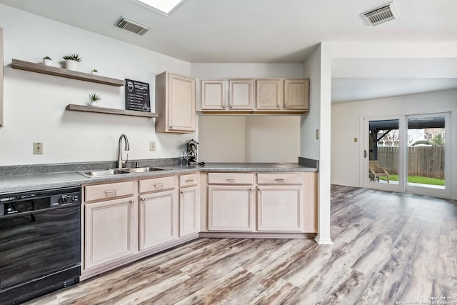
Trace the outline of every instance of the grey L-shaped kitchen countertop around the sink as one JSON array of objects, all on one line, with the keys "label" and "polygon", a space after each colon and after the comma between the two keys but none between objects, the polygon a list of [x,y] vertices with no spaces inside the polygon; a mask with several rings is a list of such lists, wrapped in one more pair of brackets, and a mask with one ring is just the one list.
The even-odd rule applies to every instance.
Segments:
[{"label": "grey L-shaped kitchen countertop around the sink", "polygon": [[96,178],[88,178],[82,174],[79,174],[77,171],[0,176],[0,194],[19,191],[31,191],[36,189],[79,186],[81,184],[89,184],[94,182],[109,182],[125,179],[141,179],[154,176],[186,174],[196,171],[317,171],[316,168],[302,166],[298,163],[207,163],[204,166],[161,165],[156,167],[168,170],[150,171],[146,173],[120,174],[114,176],[100,176]]}]

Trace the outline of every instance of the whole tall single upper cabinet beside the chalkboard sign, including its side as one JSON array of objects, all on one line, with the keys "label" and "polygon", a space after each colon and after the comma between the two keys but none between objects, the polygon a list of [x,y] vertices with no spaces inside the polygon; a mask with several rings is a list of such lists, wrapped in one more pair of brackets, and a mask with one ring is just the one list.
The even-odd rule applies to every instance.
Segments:
[{"label": "whole tall single upper cabinet beside the chalkboard sign, including its side", "polygon": [[163,72],[156,75],[156,132],[195,132],[196,81]]}]

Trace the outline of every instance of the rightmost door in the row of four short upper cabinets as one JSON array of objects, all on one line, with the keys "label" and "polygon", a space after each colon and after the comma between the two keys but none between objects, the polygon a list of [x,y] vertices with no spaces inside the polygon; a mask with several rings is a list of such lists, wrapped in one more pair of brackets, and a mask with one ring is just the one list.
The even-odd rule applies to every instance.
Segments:
[{"label": "rightmost door in the row of four short upper cabinets", "polygon": [[284,109],[309,109],[309,79],[286,79],[284,81]]}]

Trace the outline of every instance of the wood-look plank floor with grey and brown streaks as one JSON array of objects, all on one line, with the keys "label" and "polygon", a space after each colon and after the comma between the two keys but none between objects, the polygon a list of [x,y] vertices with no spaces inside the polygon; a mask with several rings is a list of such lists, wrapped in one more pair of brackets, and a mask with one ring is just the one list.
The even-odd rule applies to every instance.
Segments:
[{"label": "wood-look plank floor with grey and brown streaks", "polygon": [[457,298],[456,201],[347,186],[332,186],[331,198],[332,246],[199,239],[30,304],[427,304],[431,296]]}]

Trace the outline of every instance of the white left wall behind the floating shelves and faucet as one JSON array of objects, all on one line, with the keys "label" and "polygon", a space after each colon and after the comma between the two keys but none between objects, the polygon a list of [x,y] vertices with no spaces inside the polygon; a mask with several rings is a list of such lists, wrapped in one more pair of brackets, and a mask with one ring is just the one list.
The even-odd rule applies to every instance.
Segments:
[{"label": "white left wall behind the floating shelves and faucet", "polygon": [[[11,69],[11,59],[41,62],[51,56],[82,57],[80,71],[150,84],[154,105],[155,75],[171,71],[189,75],[191,64],[137,46],[61,24],[0,4],[4,28],[4,127],[0,129],[0,165],[116,160],[117,141],[129,137],[130,159],[176,157],[196,134],[155,134],[154,119],[65,111],[67,104],[86,104],[87,95],[102,96],[99,106],[124,109],[124,86],[114,87]],[[154,108],[153,108],[154,109]],[[156,141],[156,151],[149,151]],[[32,154],[33,142],[44,154]]]}]

